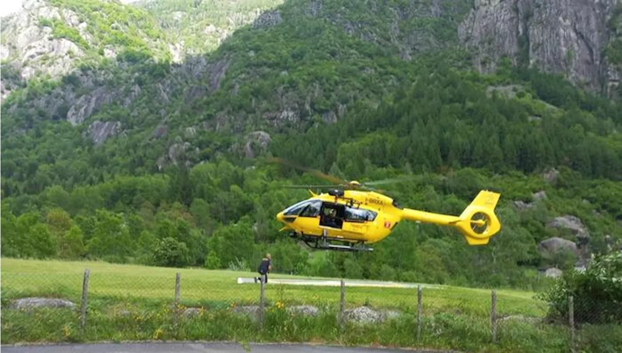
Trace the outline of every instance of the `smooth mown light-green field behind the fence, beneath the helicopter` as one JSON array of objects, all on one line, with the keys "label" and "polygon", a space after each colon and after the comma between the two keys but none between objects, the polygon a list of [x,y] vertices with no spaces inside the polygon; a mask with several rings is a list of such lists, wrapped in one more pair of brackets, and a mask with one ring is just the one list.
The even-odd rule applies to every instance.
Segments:
[{"label": "smooth mown light-green field behind the fence, beneath the helicopter", "polygon": [[[175,273],[181,274],[181,302],[201,305],[213,302],[257,303],[259,285],[238,284],[238,277],[253,277],[256,273],[195,268],[162,268],[139,265],[116,265],[104,262],[60,262],[42,260],[0,259],[0,288],[16,295],[59,295],[78,300],[83,273],[90,270],[90,296],[135,297],[150,300],[173,300]],[[271,275],[270,278],[303,278]],[[347,281],[347,280],[346,280]],[[491,291],[475,288],[439,286],[424,288],[424,311],[460,311],[488,316]],[[542,316],[544,307],[526,291],[497,291],[497,312],[500,316],[523,314]],[[266,298],[296,304],[338,303],[340,288],[300,285],[266,285]],[[411,288],[347,287],[346,306],[368,304],[377,308],[414,308],[417,290]]]}]

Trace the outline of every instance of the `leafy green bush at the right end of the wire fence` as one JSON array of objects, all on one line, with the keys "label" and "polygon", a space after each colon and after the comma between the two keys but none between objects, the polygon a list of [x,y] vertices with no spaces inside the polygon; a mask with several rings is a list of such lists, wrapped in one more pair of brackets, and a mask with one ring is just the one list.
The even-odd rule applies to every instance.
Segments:
[{"label": "leafy green bush at the right end of the wire fence", "polygon": [[538,296],[549,303],[554,321],[567,321],[573,296],[575,323],[622,323],[622,252],[594,257],[585,272],[565,272]]}]

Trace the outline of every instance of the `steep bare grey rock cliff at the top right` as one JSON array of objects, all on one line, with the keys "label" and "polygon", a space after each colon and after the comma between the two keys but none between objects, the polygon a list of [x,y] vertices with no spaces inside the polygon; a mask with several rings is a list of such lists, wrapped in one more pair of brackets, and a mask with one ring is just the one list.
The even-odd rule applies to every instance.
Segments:
[{"label": "steep bare grey rock cliff at the top right", "polygon": [[617,0],[475,0],[458,35],[481,72],[507,55],[514,65],[564,73],[573,83],[611,92],[618,70],[606,48],[615,33]]}]

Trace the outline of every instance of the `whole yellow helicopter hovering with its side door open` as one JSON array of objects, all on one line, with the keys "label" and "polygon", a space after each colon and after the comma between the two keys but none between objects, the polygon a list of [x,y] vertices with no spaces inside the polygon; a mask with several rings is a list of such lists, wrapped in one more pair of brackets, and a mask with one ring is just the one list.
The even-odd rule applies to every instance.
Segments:
[{"label": "whole yellow helicopter hovering with its side door open", "polygon": [[[494,213],[501,195],[493,191],[481,190],[460,216],[449,216],[403,208],[394,199],[371,187],[406,180],[404,178],[369,183],[344,182],[317,170],[299,168],[338,181],[337,185],[285,186],[307,188],[311,197],[276,215],[276,219],[284,224],[281,231],[290,231],[291,237],[304,241],[313,249],[372,251],[368,244],[389,236],[402,220],[453,226],[469,245],[488,244],[490,238],[501,230],[501,222]],[[327,193],[317,194],[310,190],[327,187],[332,188]]]}]

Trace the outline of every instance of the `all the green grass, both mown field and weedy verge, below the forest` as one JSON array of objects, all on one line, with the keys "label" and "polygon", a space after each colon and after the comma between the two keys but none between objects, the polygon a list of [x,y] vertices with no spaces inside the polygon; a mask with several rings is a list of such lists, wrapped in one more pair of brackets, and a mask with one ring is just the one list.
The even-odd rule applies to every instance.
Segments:
[{"label": "all the green grass, both mown field and weedy verge, below the forest", "polygon": [[[80,302],[84,268],[90,282],[86,329],[78,309],[16,310],[7,307],[24,296]],[[181,273],[181,300],[174,324],[175,273]],[[340,288],[267,285],[262,328],[254,311],[240,306],[259,301],[259,285],[238,285],[253,273],[152,268],[101,262],[45,262],[0,259],[0,343],[201,340],[327,342],[364,346],[455,349],[468,352],[568,352],[565,326],[542,323],[544,306],[533,293],[498,291],[501,319],[491,342],[490,291],[424,288],[423,318],[417,340],[417,291],[404,288],[346,288],[346,308],[368,305],[396,310],[381,323],[338,324]],[[273,277],[277,277],[276,275]],[[287,277],[292,276],[278,276]],[[290,313],[293,305],[313,305],[316,316]],[[185,311],[194,307],[193,312]],[[600,337],[595,339],[594,337]],[[589,352],[617,352],[618,326],[582,328],[578,346]],[[616,341],[617,340],[617,341]],[[612,350],[613,349],[613,350]]]}]

